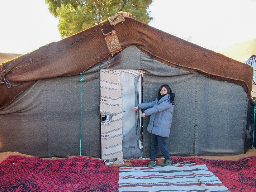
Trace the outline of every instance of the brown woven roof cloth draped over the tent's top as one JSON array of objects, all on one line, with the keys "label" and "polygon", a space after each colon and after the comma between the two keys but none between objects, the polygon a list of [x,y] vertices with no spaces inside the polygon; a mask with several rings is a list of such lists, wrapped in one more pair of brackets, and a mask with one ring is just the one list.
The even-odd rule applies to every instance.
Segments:
[{"label": "brown woven roof cloth draped over the tent's top", "polygon": [[[34,81],[77,75],[130,45],[136,45],[169,66],[240,85],[251,100],[251,66],[162,32],[130,16],[116,14],[94,27],[3,63],[0,66],[0,110]],[[11,85],[21,85],[8,88],[8,81]]]}]

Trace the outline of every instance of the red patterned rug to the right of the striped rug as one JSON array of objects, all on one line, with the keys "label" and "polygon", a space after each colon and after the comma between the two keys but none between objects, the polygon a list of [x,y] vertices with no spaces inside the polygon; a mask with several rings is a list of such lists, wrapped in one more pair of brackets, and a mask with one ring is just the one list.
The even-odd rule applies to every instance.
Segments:
[{"label": "red patterned rug to the right of the striped rug", "polygon": [[209,171],[217,176],[224,186],[232,192],[256,191],[256,156],[242,158],[238,161],[212,160],[203,158],[171,157],[172,162],[193,161],[204,163]]}]

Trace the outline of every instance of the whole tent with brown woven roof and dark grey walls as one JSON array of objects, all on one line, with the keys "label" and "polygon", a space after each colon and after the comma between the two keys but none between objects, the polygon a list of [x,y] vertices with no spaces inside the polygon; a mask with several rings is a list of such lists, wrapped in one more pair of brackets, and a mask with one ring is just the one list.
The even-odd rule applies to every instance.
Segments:
[{"label": "whole tent with brown woven roof and dark grey walls", "polygon": [[[120,12],[3,63],[0,151],[38,157],[149,157],[149,117],[131,110],[175,93],[171,155],[234,155],[252,144],[253,68]],[[122,156],[123,155],[123,156]]]}]

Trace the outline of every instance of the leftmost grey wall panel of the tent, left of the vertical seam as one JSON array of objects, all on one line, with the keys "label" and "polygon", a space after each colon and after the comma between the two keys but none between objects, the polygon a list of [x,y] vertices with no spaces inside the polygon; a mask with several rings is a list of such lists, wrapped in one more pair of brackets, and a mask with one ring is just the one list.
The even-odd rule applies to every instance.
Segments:
[{"label": "leftmost grey wall panel of the tent, left of the vertical seam", "polygon": [[46,86],[36,82],[0,111],[0,152],[48,157]]}]

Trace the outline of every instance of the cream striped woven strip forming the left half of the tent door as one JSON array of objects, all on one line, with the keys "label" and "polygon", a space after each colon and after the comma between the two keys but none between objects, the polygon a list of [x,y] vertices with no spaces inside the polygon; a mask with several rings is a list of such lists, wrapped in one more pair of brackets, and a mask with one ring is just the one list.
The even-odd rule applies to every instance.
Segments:
[{"label": "cream striped woven strip forming the left half of the tent door", "polygon": [[[101,158],[123,161],[122,87],[120,71],[100,71],[100,113],[106,115],[101,122]],[[108,117],[111,116],[110,120]]]}]

